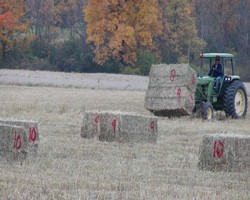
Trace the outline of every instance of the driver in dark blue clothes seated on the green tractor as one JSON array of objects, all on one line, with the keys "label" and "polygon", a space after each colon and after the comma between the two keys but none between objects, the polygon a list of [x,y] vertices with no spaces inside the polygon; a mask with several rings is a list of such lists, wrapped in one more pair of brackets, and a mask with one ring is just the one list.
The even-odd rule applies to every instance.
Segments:
[{"label": "driver in dark blue clothes seated on the green tractor", "polygon": [[211,67],[208,76],[215,78],[214,90],[215,92],[219,92],[220,81],[223,77],[222,65],[220,64],[220,57],[215,58],[215,63]]}]

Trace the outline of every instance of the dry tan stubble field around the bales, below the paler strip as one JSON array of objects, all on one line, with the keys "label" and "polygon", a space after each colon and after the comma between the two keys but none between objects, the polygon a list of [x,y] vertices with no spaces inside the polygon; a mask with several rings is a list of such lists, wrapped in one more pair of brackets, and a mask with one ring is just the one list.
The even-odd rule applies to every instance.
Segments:
[{"label": "dry tan stubble field around the bales, below the paler strip", "polygon": [[250,199],[250,171],[197,168],[202,136],[250,135],[249,113],[245,120],[213,122],[161,118],[155,145],[80,138],[81,111],[150,115],[144,96],[145,91],[0,85],[0,117],[39,121],[40,131],[36,159],[0,160],[0,199]]}]

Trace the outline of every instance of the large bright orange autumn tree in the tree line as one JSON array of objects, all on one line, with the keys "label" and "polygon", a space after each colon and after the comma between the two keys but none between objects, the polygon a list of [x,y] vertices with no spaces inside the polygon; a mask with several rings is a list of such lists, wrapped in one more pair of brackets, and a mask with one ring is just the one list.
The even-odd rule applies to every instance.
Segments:
[{"label": "large bright orange autumn tree in the tree line", "polygon": [[87,42],[99,64],[110,57],[134,63],[136,50],[153,50],[154,38],[162,33],[157,0],[88,0],[84,13]]}]

